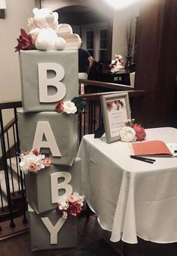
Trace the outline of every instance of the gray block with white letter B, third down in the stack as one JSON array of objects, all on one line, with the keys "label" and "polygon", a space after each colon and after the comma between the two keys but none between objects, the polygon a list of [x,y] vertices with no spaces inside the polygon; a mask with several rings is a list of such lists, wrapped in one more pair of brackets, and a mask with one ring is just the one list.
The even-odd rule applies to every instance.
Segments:
[{"label": "gray block with white letter B, third down in the stack", "polygon": [[37,214],[53,210],[63,196],[81,193],[81,159],[76,158],[72,167],[51,165],[27,173],[25,180],[27,201]]}]

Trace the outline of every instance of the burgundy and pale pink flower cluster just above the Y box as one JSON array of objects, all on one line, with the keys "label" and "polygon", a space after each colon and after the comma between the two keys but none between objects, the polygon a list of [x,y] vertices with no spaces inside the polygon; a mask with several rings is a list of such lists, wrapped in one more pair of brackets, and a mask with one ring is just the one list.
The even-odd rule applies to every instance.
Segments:
[{"label": "burgundy and pale pink flower cluster just above the Y box", "polygon": [[79,195],[74,192],[73,195],[63,197],[56,205],[56,211],[58,211],[63,218],[69,216],[78,216],[81,214],[82,207],[84,205],[84,195]]}]

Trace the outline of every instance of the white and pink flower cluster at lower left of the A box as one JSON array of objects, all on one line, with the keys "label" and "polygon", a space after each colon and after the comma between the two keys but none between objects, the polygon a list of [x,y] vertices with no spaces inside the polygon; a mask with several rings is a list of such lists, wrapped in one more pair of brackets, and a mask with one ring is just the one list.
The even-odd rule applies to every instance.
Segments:
[{"label": "white and pink flower cluster at lower left of the A box", "polygon": [[24,151],[20,154],[20,170],[23,173],[38,173],[38,170],[50,167],[50,158],[45,158],[45,155],[40,155],[35,148],[32,151]]}]

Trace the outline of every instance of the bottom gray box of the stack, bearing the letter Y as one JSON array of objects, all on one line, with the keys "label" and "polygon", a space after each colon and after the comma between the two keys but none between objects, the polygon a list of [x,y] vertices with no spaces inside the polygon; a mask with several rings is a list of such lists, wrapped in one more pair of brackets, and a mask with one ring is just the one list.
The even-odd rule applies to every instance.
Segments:
[{"label": "bottom gray box of the stack, bearing the letter Y", "polygon": [[[32,251],[77,247],[78,217],[68,217],[63,220],[56,210],[47,211],[44,214],[36,214],[30,206],[28,216]],[[52,226],[57,226],[59,221],[61,223],[59,232],[51,236],[53,232],[51,229],[49,232],[42,218],[48,218],[47,222],[51,223]]]}]

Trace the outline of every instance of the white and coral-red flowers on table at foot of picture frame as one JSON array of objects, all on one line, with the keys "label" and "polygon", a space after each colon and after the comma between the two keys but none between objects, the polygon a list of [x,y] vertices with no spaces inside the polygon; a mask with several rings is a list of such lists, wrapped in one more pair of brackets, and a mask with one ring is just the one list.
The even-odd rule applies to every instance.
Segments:
[{"label": "white and coral-red flowers on table at foot of picture frame", "polygon": [[134,123],[134,120],[127,120],[125,126],[120,131],[122,142],[135,142],[145,139],[145,129],[139,123]]}]

